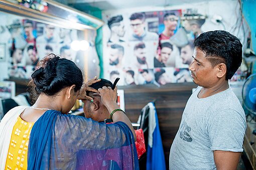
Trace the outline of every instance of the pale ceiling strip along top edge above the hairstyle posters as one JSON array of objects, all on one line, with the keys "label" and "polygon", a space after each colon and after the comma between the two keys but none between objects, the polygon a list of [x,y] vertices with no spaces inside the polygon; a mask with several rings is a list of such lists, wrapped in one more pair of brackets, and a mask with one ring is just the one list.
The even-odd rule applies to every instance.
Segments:
[{"label": "pale ceiling strip along top edge above the hairstyle posters", "polygon": [[67,0],[68,4],[97,7],[101,10],[131,8],[139,6],[171,6],[209,0]]}]

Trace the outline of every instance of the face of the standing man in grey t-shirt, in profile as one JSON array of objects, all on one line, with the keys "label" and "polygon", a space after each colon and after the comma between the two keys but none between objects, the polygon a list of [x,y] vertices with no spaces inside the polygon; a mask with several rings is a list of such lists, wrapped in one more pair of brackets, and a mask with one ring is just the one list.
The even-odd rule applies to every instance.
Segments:
[{"label": "face of the standing man in grey t-shirt, in profile", "polygon": [[194,49],[194,60],[190,64],[189,69],[191,70],[191,75],[194,83],[202,87],[211,87],[215,85],[218,80],[217,72],[218,65],[212,67],[209,60],[206,59],[206,54],[195,47]]}]

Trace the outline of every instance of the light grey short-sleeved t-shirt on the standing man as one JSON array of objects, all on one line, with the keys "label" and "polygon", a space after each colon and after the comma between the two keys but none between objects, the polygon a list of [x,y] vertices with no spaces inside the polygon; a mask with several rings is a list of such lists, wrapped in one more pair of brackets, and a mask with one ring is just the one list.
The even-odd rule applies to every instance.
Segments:
[{"label": "light grey short-sleeved t-shirt on the standing man", "polygon": [[234,92],[229,87],[198,98],[201,88],[193,92],[184,109],[170,150],[170,169],[216,169],[213,150],[243,150],[246,120]]}]

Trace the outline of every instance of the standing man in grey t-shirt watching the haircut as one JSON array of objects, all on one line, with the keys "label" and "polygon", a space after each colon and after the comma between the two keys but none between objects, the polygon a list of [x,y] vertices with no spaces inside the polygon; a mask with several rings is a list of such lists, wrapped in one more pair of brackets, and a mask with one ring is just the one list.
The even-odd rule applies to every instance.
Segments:
[{"label": "standing man in grey t-shirt watching the haircut", "polygon": [[189,69],[198,87],[184,109],[170,150],[170,169],[236,169],[246,129],[230,79],[242,60],[242,44],[224,30],[195,40]]}]

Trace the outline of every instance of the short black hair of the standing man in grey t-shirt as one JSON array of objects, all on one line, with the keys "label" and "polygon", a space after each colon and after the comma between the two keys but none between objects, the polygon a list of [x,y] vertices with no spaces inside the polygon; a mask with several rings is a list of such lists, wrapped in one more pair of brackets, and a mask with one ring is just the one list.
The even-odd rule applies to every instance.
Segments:
[{"label": "short black hair of the standing man in grey t-shirt", "polygon": [[242,44],[240,40],[225,30],[201,33],[194,41],[195,47],[204,51],[212,66],[223,62],[226,64],[226,80],[230,79],[242,62]]}]

